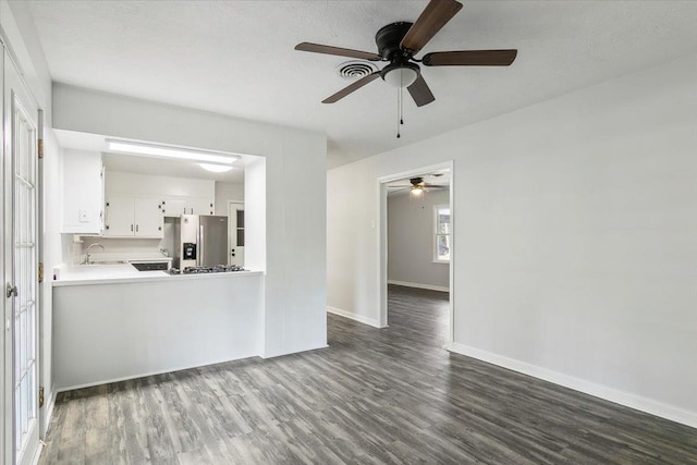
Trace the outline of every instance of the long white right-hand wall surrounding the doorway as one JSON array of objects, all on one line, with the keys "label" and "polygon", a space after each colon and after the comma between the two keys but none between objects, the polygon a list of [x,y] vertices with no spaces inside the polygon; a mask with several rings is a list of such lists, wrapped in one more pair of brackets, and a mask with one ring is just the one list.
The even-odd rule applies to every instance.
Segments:
[{"label": "long white right-hand wall surrounding the doorway", "polygon": [[697,54],[331,170],[329,305],[377,318],[377,178],[453,160],[453,348],[697,426],[695,83]]}]

